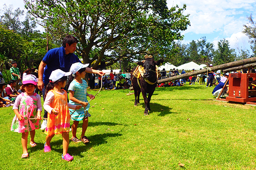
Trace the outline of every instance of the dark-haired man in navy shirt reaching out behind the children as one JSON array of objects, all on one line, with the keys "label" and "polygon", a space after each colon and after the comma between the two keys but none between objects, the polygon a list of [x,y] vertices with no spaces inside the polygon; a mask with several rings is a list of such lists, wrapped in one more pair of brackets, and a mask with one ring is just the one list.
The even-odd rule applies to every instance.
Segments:
[{"label": "dark-haired man in navy shirt reaching out behind the children", "polygon": [[[66,35],[62,41],[62,47],[51,49],[46,53],[42,59],[39,68],[38,68],[38,89],[42,91],[43,98],[45,99],[45,87],[49,83],[49,76],[52,71],[60,69],[64,72],[68,72],[73,63],[81,61],[78,59],[74,52],[76,51],[76,44],[78,39],[72,35]],[[99,70],[94,70],[89,67],[86,67],[86,72],[96,73],[100,76],[104,75],[104,72]],[[47,112],[44,112],[44,118],[47,118]],[[47,121],[44,120],[41,126],[41,129],[46,128]]]}]

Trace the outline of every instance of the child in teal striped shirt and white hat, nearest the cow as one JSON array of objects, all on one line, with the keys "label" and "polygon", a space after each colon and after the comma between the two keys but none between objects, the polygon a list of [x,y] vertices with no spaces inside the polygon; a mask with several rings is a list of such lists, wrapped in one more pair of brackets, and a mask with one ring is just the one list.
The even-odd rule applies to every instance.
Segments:
[{"label": "child in teal striped shirt and white hat, nearest the cow", "polygon": [[[82,79],[85,77],[85,70],[88,65],[89,64],[74,63],[70,67],[70,71],[75,74],[75,78],[73,80],[72,75],[69,76],[69,81],[72,81],[68,87],[70,97],[69,103],[75,105],[81,104],[84,107],[76,110],[70,108],[70,112],[72,112],[71,119],[74,121],[72,125],[71,140],[74,143],[83,142],[86,144],[90,142],[90,140],[85,136],[85,132],[88,127],[88,117],[91,116],[88,111],[90,103],[88,103],[87,96],[90,97],[90,99],[94,99],[94,96],[87,93],[88,84]],[[76,137],[76,129],[79,121],[83,121],[80,139]]]}]

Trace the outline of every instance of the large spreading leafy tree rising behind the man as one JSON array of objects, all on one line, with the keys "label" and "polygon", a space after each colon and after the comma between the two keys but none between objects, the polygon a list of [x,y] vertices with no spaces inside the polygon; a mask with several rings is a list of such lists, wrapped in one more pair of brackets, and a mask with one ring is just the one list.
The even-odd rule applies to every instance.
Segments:
[{"label": "large spreading leafy tree rising behind the man", "polygon": [[[79,38],[77,52],[85,63],[111,65],[120,59],[141,59],[145,54],[170,61],[174,40],[190,24],[182,8],[168,9],[166,0],[24,0],[54,39],[72,34]],[[121,56],[112,51],[122,51]],[[95,52],[96,51],[96,52]]]}]

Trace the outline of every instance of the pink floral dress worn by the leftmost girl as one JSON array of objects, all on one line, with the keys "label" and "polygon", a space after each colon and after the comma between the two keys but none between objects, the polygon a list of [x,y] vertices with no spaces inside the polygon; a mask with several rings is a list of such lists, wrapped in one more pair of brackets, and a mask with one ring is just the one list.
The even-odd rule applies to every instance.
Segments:
[{"label": "pink floral dress worn by the leftmost girl", "polygon": [[30,118],[37,117],[37,102],[41,101],[37,101],[36,93],[34,93],[33,96],[28,96],[24,93],[20,95],[22,95],[22,97],[19,104],[19,113],[24,116],[24,120],[19,121],[18,117],[15,115],[12,120],[11,131],[24,133],[39,129],[40,121],[38,119],[30,120]]}]

